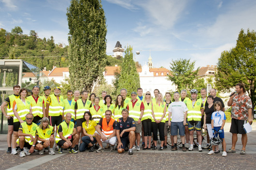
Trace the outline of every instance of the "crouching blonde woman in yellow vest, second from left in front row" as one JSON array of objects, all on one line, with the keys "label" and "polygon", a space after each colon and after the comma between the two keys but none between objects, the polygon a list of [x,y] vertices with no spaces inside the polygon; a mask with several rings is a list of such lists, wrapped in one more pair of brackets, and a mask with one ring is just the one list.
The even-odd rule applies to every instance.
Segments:
[{"label": "crouching blonde woman in yellow vest, second from left in front row", "polygon": [[[40,145],[43,145],[43,148],[50,146],[49,155],[55,155],[55,152],[53,150],[54,131],[53,127],[50,126],[50,121],[48,118],[42,118],[40,126],[36,128],[36,136],[38,139],[38,143]],[[43,150],[39,152],[39,155],[43,155]]]}]

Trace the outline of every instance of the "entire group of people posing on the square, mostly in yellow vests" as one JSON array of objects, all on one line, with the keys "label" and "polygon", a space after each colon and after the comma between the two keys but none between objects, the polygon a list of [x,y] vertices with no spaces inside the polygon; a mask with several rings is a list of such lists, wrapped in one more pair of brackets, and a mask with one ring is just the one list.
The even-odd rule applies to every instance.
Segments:
[{"label": "entire group of people posing on the square, mostly in yellow vests", "polygon": [[[244,86],[236,85],[236,92],[232,94],[228,106],[232,105],[232,147],[226,151],[224,139],[224,124],[226,120],[225,106],[221,98],[216,97],[216,90],[211,89],[207,96],[206,89],[201,89],[201,98],[198,91],[192,89],[191,99],[186,97],[186,90],[174,92],[171,102],[171,93],[166,92],[165,97],[159,90],[142,95],[142,88],[131,92],[127,97],[127,90],[121,89],[114,104],[112,97],[106,91],[101,93],[101,100],[95,93],[79,91],[67,92],[67,98],[60,95],[60,88],[45,86],[44,95],[40,96],[39,86],[34,86],[32,95],[27,97],[27,90],[14,86],[14,94],[7,97],[1,105],[4,116],[8,119],[7,153],[26,157],[39,151],[40,155],[48,149],[50,155],[63,153],[69,149],[70,153],[89,150],[93,152],[104,151],[102,143],[110,151],[115,149],[118,153],[133,150],[139,151],[142,136],[142,149],[157,149],[158,134],[160,146],[158,150],[167,148],[168,131],[171,131],[171,150],[177,150],[177,135],[181,136],[182,151],[194,150],[194,131],[197,132],[198,150],[202,151],[201,128],[208,129],[209,137],[219,138],[223,144],[222,156],[234,153],[237,134],[242,134],[242,151],[246,154],[246,132],[243,130],[244,120],[252,123],[251,99],[245,95]],[[81,97],[80,97],[81,96]],[[246,101],[246,102],[245,102]],[[7,107],[7,112],[5,110]],[[56,131],[56,136],[54,135]],[[153,135],[153,144],[151,144]],[[78,146],[80,141],[80,146]],[[115,147],[116,144],[116,147]],[[208,154],[219,153],[218,146],[213,146]]]}]

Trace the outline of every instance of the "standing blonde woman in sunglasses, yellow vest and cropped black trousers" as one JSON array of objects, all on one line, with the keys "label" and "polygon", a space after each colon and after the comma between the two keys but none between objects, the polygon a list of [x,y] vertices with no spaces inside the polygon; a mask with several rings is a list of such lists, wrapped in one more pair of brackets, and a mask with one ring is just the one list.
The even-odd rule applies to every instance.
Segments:
[{"label": "standing blonde woman in sunglasses, yellow vest and cropped black trousers", "polygon": [[[144,114],[142,116],[142,126],[144,130],[144,140],[145,140],[145,147],[143,150],[150,149],[151,146],[151,139],[152,139],[152,100],[151,100],[151,93],[146,92],[143,98],[144,104]],[[147,147],[147,140],[148,146]]]}]

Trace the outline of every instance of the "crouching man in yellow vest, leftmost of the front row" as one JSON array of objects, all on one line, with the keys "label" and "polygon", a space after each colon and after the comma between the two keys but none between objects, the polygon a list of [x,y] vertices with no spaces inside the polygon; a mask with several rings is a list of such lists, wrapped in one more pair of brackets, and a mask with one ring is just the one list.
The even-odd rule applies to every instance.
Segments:
[{"label": "crouching man in yellow vest, leftmost of the front row", "polygon": [[[18,144],[20,146],[20,157],[26,157],[36,150],[43,150],[43,146],[39,145],[36,137],[37,124],[33,123],[34,116],[32,114],[26,115],[26,122],[20,124],[18,136]],[[24,147],[24,148],[23,148]],[[27,150],[27,148],[29,150]],[[26,155],[25,155],[26,153]]]}]

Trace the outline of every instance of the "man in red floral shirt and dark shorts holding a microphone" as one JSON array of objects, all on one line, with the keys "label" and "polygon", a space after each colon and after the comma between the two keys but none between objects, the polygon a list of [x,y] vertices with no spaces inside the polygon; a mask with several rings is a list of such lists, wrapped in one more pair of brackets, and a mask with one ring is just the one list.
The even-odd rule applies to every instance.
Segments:
[{"label": "man in red floral shirt and dark shorts holding a microphone", "polygon": [[236,92],[233,94],[229,101],[228,106],[232,106],[231,110],[231,127],[230,132],[232,133],[232,147],[227,153],[235,153],[235,146],[237,142],[237,134],[242,134],[242,151],[240,154],[245,155],[245,146],[247,143],[247,134],[243,129],[243,124],[246,120],[250,124],[253,123],[252,119],[252,101],[249,96],[245,95],[245,88],[242,83],[236,84]]}]

